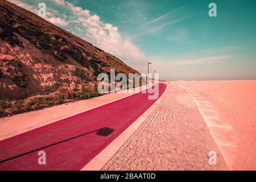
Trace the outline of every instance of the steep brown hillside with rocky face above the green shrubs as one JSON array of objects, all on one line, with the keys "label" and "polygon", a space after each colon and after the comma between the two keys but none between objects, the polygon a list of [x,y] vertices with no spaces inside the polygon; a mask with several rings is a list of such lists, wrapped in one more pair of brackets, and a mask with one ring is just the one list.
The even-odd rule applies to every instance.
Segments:
[{"label": "steep brown hillside with rocky face above the green shrubs", "polygon": [[137,73],[117,57],[5,0],[0,0],[0,38],[0,100],[63,88],[73,98],[76,92],[96,92],[98,74],[110,68]]}]

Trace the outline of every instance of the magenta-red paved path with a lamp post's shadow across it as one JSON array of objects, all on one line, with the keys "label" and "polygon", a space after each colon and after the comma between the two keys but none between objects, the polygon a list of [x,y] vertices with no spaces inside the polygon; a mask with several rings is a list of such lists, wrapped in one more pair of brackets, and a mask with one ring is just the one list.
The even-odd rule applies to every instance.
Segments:
[{"label": "magenta-red paved path with a lamp post's shadow across it", "polygon": [[[165,89],[159,84],[159,97]],[[2,140],[0,170],[80,170],[155,101],[137,93]],[[46,165],[38,164],[42,150]]]}]

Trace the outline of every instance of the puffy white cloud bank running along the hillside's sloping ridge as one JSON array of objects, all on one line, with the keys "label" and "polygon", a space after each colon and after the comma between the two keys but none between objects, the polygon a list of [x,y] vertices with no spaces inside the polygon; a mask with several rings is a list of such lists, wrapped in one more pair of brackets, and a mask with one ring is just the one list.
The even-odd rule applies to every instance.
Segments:
[{"label": "puffy white cloud bank running along the hillside's sloping ridge", "polygon": [[[37,13],[36,6],[27,5],[20,0],[9,1],[18,6],[27,7],[27,10],[35,14]],[[131,66],[135,67],[139,62],[146,59],[144,53],[131,42],[130,38],[123,37],[117,27],[103,22],[100,16],[92,15],[89,10],[82,9],[64,0],[54,0],[54,2],[61,5],[62,9],[68,10],[69,16],[61,15],[58,11],[47,6],[47,17],[45,19],[49,22],[71,30],[73,34],[125,60]],[[59,17],[56,14],[59,14]]]}]

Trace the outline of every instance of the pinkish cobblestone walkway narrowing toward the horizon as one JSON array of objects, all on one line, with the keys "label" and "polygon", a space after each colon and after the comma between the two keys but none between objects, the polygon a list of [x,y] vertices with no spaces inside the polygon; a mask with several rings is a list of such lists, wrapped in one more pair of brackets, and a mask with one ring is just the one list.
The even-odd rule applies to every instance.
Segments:
[{"label": "pinkish cobblestone walkway narrowing toward the horizon", "polygon": [[[167,85],[162,102],[102,170],[228,169],[192,98]],[[216,165],[209,151],[217,152]]]}]

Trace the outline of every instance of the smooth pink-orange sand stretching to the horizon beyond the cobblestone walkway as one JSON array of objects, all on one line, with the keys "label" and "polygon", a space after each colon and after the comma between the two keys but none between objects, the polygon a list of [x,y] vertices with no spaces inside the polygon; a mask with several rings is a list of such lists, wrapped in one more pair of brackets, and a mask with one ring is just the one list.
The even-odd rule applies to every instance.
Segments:
[{"label": "smooth pink-orange sand stretching to the horizon beyond the cobblestone walkway", "polygon": [[176,81],[206,98],[237,137],[232,169],[256,169],[256,80]]}]

